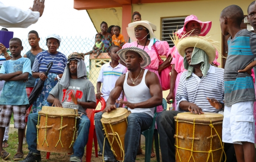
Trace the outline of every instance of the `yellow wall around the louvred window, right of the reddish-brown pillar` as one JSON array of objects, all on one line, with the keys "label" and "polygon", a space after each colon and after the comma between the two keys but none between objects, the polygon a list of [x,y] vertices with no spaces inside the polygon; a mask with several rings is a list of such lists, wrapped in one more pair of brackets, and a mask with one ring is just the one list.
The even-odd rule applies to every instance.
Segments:
[{"label": "yellow wall around the louvred window, right of the reddish-brown pillar", "polygon": [[[200,0],[168,3],[134,4],[132,12],[141,13],[142,20],[148,20],[156,25],[155,36],[161,39],[161,18],[182,17],[196,15],[201,21],[212,21],[212,27],[208,34],[211,39],[219,41],[218,50],[221,52],[222,32],[219,23],[221,11],[229,5],[238,5],[247,15],[247,7],[252,0]],[[221,63],[219,56],[218,62]],[[221,67],[221,66],[220,66]]]}]

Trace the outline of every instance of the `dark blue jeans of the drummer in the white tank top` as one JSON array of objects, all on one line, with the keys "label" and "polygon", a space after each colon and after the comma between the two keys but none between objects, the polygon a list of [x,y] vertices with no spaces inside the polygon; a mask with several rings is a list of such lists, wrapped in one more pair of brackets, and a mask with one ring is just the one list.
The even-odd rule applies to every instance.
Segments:
[{"label": "dark blue jeans of the drummer in the white tank top", "polygon": [[[103,144],[104,144],[104,131],[102,130],[101,124],[101,116],[102,112],[98,112],[95,114],[95,130],[98,139],[98,143],[100,146],[101,152],[103,152]],[[124,162],[135,162],[136,154],[139,146],[139,140],[141,137],[141,130],[146,130],[152,124],[153,118],[146,113],[131,113],[128,118],[128,127],[125,134],[125,142],[124,142]],[[115,162],[115,156],[113,155],[108,140],[105,140],[104,147],[104,160]]]}]

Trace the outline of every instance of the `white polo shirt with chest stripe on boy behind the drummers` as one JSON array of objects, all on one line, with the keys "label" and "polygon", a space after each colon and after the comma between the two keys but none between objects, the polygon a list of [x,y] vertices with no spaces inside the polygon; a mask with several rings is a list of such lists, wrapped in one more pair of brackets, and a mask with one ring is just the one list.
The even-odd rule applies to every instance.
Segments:
[{"label": "white polo shirt with chest stripe on boy behind the drummers", "polygon": [[[97,82],[102,83],[101,93],[105,101],[108,100],[108,96],[111,90],[115,87],[116,80],[126,73],[126,67],[119,63],[115,68],[110,66],[110,62],[102,65]],[[118,99],[122,98],[122,94]]]}]

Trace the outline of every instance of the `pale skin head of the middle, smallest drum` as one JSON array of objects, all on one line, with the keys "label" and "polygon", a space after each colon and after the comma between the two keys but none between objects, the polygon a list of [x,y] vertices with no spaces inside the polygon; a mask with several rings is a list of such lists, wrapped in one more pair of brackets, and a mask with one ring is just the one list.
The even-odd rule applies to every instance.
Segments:
[{"label": "pale skin head of the middle, smallest drum", "polygon": [[113,120],[118,120],[118,119],[122,119],[122,118],[127,118],[130,113],[131,112],[128,111],[126,108],[119,107],[119,108],[112,110],[111,112],[104,112],[102,114],[102,120],[104,122],[107,122],[107,121],[113,121]]}]

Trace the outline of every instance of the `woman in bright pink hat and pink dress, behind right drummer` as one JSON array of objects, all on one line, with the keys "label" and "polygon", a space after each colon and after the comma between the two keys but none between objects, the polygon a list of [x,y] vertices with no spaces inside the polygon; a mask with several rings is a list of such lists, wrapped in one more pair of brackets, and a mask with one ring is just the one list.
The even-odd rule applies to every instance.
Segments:
[{"label": "woman in bright pink hat and pink dress, behind right drummer", "polygon": [[[208,32],[211,29],[212,22],[207,21],[207,22],[202,22],[197,19],[195,15],[189,15],[186,17],[184,26],[182,29],[177,31],[177,35],[179,37],[182,37],[184,35],[189,35],[189,36],[206,36]],[[194,31],[193,31],[194,30]],[[192,31],[192,32],[189,32]],[[177,88],[179,85],[180,81],[180,76],[182,75],[182,72],[184,72],[186,69],[184,69],[183,65],[183,57],[179,54],[177,51],[176,47],[174,46],[172,49],[172,71],[171,71],[171,78],[170,78],[170,92],[168,96],[166,97],[166,100],[168,104],[170,104],[170,100],[174,101],[174,110],[176,110],[176,100],[175,100],[175,94],[177,92]],[[218,58],[218,52],[216,51],[216,57],[213,62],[215,66],[220,65],[220,63],[217,62]]]}]

